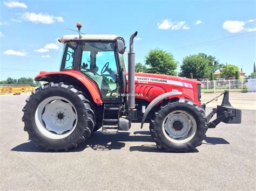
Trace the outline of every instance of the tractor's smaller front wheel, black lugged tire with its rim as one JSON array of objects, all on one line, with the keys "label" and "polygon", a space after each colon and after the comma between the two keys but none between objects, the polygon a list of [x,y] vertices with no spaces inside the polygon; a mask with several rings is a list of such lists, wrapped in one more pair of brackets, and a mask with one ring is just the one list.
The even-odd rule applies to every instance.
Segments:
[{"label": "tractor's smaller front wheel, black lugged tire with its rim", "polygon": [[200,146],[206,129],[204,110],[185,99],[159,107],[150,123],[157,145],[172,152],[188,152]]}]

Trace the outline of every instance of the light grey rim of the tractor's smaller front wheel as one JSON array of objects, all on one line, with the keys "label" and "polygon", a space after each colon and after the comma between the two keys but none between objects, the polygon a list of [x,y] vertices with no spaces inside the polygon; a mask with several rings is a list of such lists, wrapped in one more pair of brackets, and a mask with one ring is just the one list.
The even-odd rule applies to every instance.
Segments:
[{"label": "light grey rim of the tractor's smaller front wheel", "polygon": [[163,132],[172,143],[183,144],[196,135],[197,123],[191,114],[178,110],[168,114],[163,122]]}]

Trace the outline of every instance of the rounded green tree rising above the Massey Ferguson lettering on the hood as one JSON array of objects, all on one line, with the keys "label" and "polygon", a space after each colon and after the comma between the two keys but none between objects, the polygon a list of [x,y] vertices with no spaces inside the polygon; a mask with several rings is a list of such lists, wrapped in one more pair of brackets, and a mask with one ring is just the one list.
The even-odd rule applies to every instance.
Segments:
[{"label": "rounded green tree rising above the Massey Ferguson lettering on the hood", "polygon": [[149,54],[145,56],[145,63],[149,66],[147,69],[149,73],[174,75],[178,62],[174,60],[171,53],[156,48],[151,49]]}]

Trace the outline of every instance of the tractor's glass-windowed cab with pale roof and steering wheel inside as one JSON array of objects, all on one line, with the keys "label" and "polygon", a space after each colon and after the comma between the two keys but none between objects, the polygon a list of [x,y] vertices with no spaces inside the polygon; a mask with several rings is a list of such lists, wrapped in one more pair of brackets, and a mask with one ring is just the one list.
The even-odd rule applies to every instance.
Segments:
[{"label": "tractor's glass-windowed cab with pale roof and steering wheel inside", "polygon": [[122,37],[68,35],[59,42],[65,44],[60,71],[77,70],[95,82],[103,100],[120,101],[126,83]]}]

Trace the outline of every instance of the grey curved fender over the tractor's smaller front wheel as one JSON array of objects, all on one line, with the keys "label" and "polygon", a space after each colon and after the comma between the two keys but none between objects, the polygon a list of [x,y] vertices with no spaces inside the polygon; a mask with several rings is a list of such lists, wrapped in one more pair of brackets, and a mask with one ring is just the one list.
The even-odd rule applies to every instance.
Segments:
[{"label": "grey curved fender over the tractor's smaller front wheel", "polygon": [[154,100],[147,106],[145,112],[144,112],[144,115],[142,117],[142,124],[140,126],[140,129],[143,128],[143,124],[144,124],[144,121],[147,117],[147,115],[149,114],[149,112],[151,111],[151,109],[160,101],[164,100],[166,97],[170,97],[170,96],[174,96],[174,95],[181,95],[182,92],[180,91],[172,91],[172,92],[167,92],[165,94],[162,94],[162,95],[159,95],[158,97],[154,98]]}]

